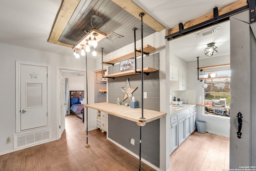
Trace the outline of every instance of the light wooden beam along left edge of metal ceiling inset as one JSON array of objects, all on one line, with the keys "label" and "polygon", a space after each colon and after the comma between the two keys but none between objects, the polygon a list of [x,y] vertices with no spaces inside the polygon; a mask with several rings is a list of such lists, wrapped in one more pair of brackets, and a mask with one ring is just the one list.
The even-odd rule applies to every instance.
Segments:
[{"label": "light wooden beam along left edge of metal ceiling inset", "polygon": [[74,45],[58,42],[64,28],[68,24],[80,0],[63,0],[58,16],[54,22],[48,42],[72,48]]}]

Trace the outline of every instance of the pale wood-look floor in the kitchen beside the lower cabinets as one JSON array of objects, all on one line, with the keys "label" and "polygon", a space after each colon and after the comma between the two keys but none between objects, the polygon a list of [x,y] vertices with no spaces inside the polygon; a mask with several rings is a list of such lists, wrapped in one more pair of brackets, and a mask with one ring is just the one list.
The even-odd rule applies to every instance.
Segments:
[{"label": "pale wood-look floor in the kitchen beside the lower cabinets", "polygon": [[170,155],[171,171],[229,169],[229,138],[194,131]]}]

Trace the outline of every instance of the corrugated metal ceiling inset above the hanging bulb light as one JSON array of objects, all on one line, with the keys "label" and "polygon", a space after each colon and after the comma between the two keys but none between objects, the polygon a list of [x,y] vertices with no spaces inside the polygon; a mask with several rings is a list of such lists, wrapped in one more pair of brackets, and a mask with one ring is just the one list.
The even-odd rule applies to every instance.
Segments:
[{"label": "corrugated metal ceiling inset above the hanging bulb light", "polygon": [[[96,28],[109,36],[112,32],[124,36],[112,42],[106,38],[98,42],[96,51],[108,54],[134,42],[134,27],[136,40],[141,38],[141,21],[123,10],[111,0],[81,0],[70,21],[66,25],[59,42],[75,45],[86,33],[84,30]],[[143,37],[156,32],[143,24]],[[92,36],[93,38],[93,36]]]}]

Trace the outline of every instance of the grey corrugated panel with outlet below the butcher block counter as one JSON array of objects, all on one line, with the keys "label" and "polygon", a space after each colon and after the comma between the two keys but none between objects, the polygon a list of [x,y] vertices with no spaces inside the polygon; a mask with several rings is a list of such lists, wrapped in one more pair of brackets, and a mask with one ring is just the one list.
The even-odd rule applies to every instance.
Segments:
[{"label": "grey corrugated panel with outlet below the butcher block counter", "polygon": [[[135,122],[108,115],[108,137],[133,153],[139,155],[140,150],[140,126]],[[160,119],[147,123],[142,127],[142,158],[156,167],[160,163]],[[134,145],[130,139],[134,139]]]}]

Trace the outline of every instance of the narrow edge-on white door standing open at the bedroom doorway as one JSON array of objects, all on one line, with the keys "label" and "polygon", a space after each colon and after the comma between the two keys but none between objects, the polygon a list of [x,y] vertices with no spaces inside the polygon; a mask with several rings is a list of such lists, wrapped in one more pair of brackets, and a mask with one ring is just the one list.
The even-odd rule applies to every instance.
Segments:
[{"label": "narrow edge-on white door standing open at the bedroom doorway", "polygon": [[65,129],[65,77],[64,72],[59,70],[59,78],[60,78],[60,136],[62,135]]}]

